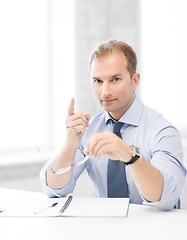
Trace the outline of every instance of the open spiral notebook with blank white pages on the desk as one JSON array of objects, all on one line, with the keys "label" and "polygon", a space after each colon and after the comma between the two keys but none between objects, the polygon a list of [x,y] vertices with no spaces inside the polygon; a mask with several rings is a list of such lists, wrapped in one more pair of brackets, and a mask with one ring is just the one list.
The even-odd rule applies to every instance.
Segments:
[{"label": "open spiral notebook with blank white pages on the desk", "polygon": [[129,198],[73,196],[69,200],[70,197],[20,200],[7,205],[0,217],[127,217],[128,214]]}]

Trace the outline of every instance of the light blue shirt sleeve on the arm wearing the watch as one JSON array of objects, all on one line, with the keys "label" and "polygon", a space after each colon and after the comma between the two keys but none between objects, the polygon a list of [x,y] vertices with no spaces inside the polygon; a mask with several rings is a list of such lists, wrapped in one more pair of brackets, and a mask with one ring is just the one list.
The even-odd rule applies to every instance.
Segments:
[{"label": "light blue shirt sleeve on the arm wearing the watch", "polygon": [[164,185],[160,201],[148,202],[142,197],[143,204],[170,210],[180,199],[186,177],[179,133],[172,126],[165,127],[157,133],[151,144],[151,164],[162,173]]}]

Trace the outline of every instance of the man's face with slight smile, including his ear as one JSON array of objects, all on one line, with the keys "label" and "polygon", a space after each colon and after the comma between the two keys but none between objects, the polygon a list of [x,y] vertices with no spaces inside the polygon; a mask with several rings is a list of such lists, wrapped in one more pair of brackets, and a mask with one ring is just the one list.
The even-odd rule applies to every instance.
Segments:
[{"label": "man's face with slight smile, including his ear", "polygon": [[134,74],[131,79],[124,54],[114,52],[93,60],[91,79],[101,106],[119,120],[134,100],[139,74]]}]

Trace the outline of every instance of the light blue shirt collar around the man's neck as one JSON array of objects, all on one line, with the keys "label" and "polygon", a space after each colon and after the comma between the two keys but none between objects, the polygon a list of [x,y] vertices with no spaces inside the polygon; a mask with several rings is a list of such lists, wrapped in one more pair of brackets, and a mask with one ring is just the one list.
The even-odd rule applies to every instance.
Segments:
[{"label": "light blue shirt collar around the man's neck", "polygon": [[[143,103],[137,97],[135,97],[134,102],[124,113],[124,115],[119,119],[119,122],[138,126],[141,119],[143,106]],[[112,119],[112,117],[108,112],[105,112],[105,123],[107,123],[109,119]]]}]

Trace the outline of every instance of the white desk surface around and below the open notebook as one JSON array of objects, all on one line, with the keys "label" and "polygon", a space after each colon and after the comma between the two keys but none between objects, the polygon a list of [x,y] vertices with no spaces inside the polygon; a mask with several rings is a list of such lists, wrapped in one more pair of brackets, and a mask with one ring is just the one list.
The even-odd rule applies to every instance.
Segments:
[{"label": "white desk surface around and below the open notebook", "polygon": [[[45,197],[41,193],[0,189],[2,198]],[[0,239],[187,239],[187,211],[158,211],[130,204],[127,218],[0,217]]]}]

